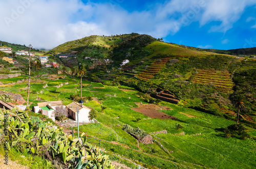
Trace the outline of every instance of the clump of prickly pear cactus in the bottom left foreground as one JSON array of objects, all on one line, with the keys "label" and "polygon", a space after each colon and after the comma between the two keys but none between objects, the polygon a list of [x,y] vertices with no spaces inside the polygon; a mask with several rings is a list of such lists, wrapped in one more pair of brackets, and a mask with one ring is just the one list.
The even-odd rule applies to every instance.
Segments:
[{"label": "clump of prickly pear cactus in the bottom left foreground", "polygon": [[[4,118],[8,114],[8,118]],[[87,142],[87,135],[80,138],[67,135],[62,128],[48,123],[44,128],[31,122],[28,111],[0,109],[0,125],[7,119],[8,135],[12,140],[10,147],[26,145],[25,151],[40,155],[48,151],[52,159],[59,158],[69,168],[115,168],[108,155],[103,155],[99,148],[92,148]],[[1,134],[1,132],[0,132]],[[47,161],[47,165],[51,165]],[[75,166],[75,167],[74,167]]]}]

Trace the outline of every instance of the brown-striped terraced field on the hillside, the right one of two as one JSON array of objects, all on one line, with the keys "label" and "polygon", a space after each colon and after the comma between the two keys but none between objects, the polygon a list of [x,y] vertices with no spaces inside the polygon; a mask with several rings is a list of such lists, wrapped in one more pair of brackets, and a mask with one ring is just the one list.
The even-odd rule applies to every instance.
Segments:
[{"label": "brown-striped terraced field on the hillside, the right one of two", "polygon": [[227,70],[197,69],[194,83],[212,84],[219,90],[232,90],[233,82]]}]

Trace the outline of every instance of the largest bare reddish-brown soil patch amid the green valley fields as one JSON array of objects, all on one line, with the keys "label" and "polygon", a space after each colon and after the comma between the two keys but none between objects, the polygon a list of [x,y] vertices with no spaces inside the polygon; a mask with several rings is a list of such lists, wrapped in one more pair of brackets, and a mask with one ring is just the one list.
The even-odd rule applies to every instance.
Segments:
[{"label": "largest bare reddish-brown soil patch amid the green valley fields", "polygon": [[160,119],[178,119],[177,117],[167,115],[163,112],[154,110],[154,109],[147,109],[147,108],[131,108],[139,113],[142,113],[151,118],[160,118]]}]

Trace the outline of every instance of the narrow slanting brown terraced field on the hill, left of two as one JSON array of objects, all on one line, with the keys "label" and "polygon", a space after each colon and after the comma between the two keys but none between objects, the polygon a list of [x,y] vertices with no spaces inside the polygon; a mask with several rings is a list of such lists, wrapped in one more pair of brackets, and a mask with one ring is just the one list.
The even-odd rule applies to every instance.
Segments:
[{"label": "narrow slanting brown terraced field on the hill, left of two", "polygon": [[167,63],[170,58],[161,58],[155,61],[151,66],[147,69],[144,69],[142,73],[137,75],[140,80],[148,81],[154,77],[155,74]]}]

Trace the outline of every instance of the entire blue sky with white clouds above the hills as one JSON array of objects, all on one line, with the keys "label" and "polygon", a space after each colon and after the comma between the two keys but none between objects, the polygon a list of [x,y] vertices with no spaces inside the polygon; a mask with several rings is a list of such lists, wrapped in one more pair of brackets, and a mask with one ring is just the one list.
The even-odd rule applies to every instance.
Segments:
[{"label": "entire blue sky with white clouds above the hills", "polygon": [[0,14],[0,40],[38,49],[132,32],[206,49],[256,47],[255,0],[9,0]]}]

